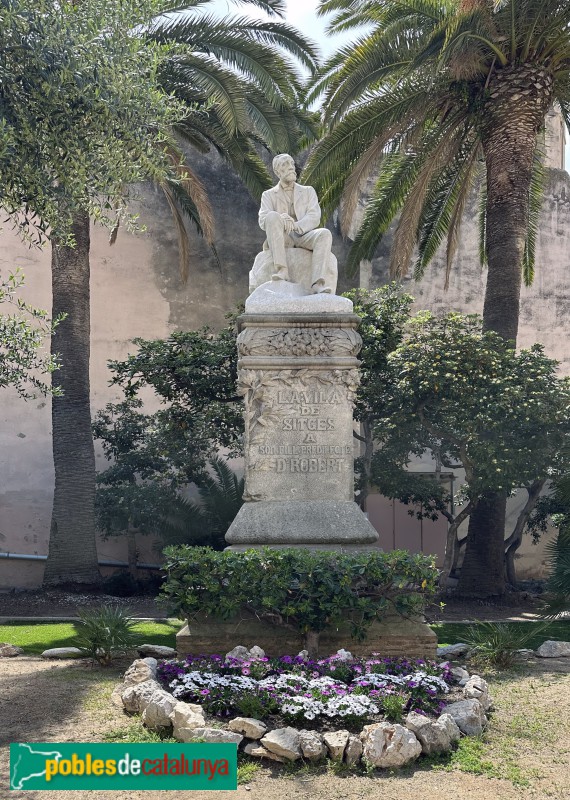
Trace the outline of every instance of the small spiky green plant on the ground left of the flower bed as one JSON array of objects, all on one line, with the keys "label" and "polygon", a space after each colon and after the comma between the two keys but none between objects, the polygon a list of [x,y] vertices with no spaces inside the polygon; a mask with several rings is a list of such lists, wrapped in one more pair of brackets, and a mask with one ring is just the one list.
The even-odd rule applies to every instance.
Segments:
[{"label": "small spiky green plant on the ground left of the flower bed", "polygon": [[79,632],[74,644],[102,667],[108,667],[117,653],[135,647],[135,622],[119,606],[78,610],[77,616]]}]

